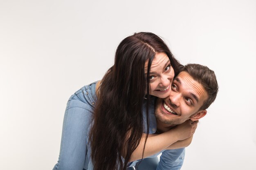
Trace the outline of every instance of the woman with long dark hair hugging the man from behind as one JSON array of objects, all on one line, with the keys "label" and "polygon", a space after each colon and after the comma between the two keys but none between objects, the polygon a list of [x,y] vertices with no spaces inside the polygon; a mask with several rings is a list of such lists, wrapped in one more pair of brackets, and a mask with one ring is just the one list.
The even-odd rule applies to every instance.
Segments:
[{"label": "woman with long dark hair hugging the man from behind", "polygon": [[[154,104],[150,95],[168,97],[179,67],[157,35],[141,32],[125,38],[117,47],[114,66],[101,82],[85,86],[70,97],[54,169],[125,170],[131,158],[137,158],[135,151],[143,146],[137,158],[141,159],[149,132],[150,104]],[[170,140],[168,145],[174,142]]]}]

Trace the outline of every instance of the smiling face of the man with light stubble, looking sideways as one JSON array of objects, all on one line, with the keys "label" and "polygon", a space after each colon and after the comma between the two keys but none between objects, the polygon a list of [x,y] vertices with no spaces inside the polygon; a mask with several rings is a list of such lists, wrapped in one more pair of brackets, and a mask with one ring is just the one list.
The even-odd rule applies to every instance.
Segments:
[{"label": "smiling face of the man with light stubble, looking sideways", "polygon": [[[202,111],[199,108],[207,97],[203,86],[189,73],[182,71],[173,80],[169,97],[157,99],[155,117],[164,124],[182,124],[187,119],[195,121]],[[204,111],[206,114],[206,110]]]}]

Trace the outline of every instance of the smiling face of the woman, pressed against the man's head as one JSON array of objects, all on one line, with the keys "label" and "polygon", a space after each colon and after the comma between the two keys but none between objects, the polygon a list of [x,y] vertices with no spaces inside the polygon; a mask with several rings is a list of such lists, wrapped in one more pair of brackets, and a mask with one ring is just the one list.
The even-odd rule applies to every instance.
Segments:
[{"label": "smiling face of the woman, pressed against the man's head", "polygon": [[[145,74],[148,71],[148,61],[145,63]],[[166,53],[156,53],[149,73],[150,95],[165,98],[171,93],[174,70]]]}]

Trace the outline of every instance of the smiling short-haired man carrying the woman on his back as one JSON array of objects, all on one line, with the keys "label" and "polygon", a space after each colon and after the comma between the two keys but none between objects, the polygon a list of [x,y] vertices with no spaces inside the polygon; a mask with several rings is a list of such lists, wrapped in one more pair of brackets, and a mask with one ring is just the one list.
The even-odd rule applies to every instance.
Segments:
[{"label": "smiling short-haired man carrying the woman on his back", "polygon": [[[166,132],[185,121],[197,122],[207,114],[206,109],[216,99],[217,92],[218,83],[213,71],[200,64],[187,64],[173,80],[170,96],[165,99],[156,99],[156,131]],[[154,127],[150,126],[150,128]],[[142,170],[141,167],[145,170],[151,168],[179,170],[183,164],[185,149],[168,149],[172,149],[175,145],[186,147],[191,140],[192,137],[177,141],[162,152],[159,163],[155,159],[147,158],[137,163],[136,170]]]}]

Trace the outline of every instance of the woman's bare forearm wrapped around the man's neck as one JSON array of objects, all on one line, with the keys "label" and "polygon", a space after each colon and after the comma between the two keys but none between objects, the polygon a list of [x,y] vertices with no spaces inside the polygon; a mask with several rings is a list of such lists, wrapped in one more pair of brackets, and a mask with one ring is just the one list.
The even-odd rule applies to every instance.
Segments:
[{"label": "woman's bare forearm wrapped around the man's neck", "polygon": [[[197,123],[192,123],[191,121],[185,121],[183,124],[175,126],[175,128],[172,128],[171,130],[168,130],[167,132],[161,133],[159,135],[150,135],[146,141],[146,146],[144,150],[144,158],[149,157],[151,155],[154,155],[162,150],[171,149],[171,148],[182,148],[186,142],[189,141],[183,141],[184,139],[187,139],[193,135],[195,132],[195,128],[197,127]],[[135,151],[132,153],[130,162],[141,159],[142,158],[142,152],[144,148],[144,143],[146,140],[146,134],[144,134],[141,137],[141,141],[139,142],[139,146],[135,149]],[[191,139],[192,140],[192,139]],[[179,141],[179,142],[177,142]],[[176,143],[177,142],[177,143]],[[171,146],[172,144],[175,144]]]}]

